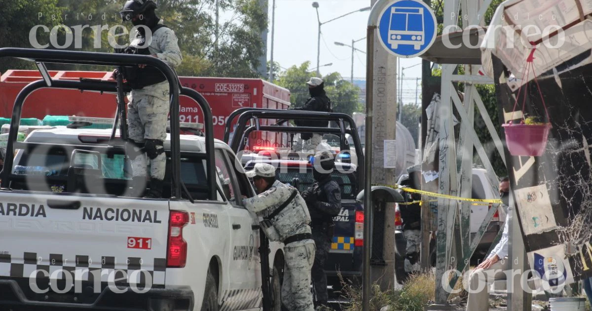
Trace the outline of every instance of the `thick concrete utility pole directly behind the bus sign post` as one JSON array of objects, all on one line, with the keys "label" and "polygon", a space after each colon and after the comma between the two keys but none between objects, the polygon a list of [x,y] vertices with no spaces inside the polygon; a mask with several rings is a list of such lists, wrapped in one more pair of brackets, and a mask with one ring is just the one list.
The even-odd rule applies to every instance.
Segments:
[{"label": "thick concrete utility pole directly behind the bus sign post", "polygon": [[[377,0],[371,0],[374,5]],[[368,38],[370,40],[370,38]],[[374,96],[372,115],[372,145],[365,148],[372,148],[372,183],[394,185],[396,180],[394,163],[385,163],[385,144],[390,144],[395,139],[397,128],[397,57],[388,53],[379,43],[378,36],[374,36],[374,76],[368,77],[374,81],[374,87],[367,89]],[[371,51],[367,51],[370,53]],[[370,66],[371,64],[366,64]],[[366,103],[367,105],[370,103]],[[368,131],[366,131],[368,134]],[[387,167],[385,167],[387,166]],[[369,191],[366,189],[365,191]],[[372,251],[370,260],[371,282],[377,282],[383,290],[395,284],[395,204],[381,203],[374,204],[374,217],[372,217],[372,244],[376,245],[377,240],[384,242],[382,254],[375,254]],[[377,230],[377,228],[384,230]],[[370,241],[368,241],[370,242]],[[375,249],[375,247],[373,247]],[[379,258],[381,257],[381,258]],[[382,260],[377,260],[382,259]]]}]

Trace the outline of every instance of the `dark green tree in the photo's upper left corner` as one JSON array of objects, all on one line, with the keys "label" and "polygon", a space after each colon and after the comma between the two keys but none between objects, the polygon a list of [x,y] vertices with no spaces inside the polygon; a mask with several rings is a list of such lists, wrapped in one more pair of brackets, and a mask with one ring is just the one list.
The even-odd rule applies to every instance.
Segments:
[{"label": "dark green tree in the photo's upper left corner", "polygon": [[[0,8],[0,47],[30,47],[29,33],[35,25],[52,28],[61,21],[57,0],[0,0]],[[38,32],[40,41],[47,38],[49,34]],[[20,68],[34,69],[35,65],[24,60],[0,59],[0,73]]]}]

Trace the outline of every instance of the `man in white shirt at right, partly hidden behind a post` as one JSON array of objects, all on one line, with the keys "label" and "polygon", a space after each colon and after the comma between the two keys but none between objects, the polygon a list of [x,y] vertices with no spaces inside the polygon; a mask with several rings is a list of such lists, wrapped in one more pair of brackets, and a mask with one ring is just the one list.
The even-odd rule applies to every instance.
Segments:
[{"label": "man in white shirt at right, partly hidden behind a post", "polygon": [[[500,181],[500,196],[506,206],[509,206],[509,191],[510,179],[505,177]],[[469,297],[466,301],[466,311],[487,311],[489,309],[489,284],[487,281],[491,284],[496,278],[503,279],[506,276],[503,271],[508,270],[511,266],[510,260],[507,259],[508,220],[510,219],[510,213],[513,213],[512,207],[508,207],[504,231],[501,234],[500,242],[497,243],[493,251],[487,256],[487,259],[481,262],[471,273],[471,277],[469,278],[469,288],[471,290],[469,290]]]}]

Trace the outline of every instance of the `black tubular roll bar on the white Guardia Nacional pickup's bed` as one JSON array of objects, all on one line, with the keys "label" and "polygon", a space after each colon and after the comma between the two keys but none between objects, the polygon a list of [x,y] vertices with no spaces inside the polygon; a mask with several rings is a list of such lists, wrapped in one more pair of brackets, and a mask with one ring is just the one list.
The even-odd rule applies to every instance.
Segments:
[{"label": "black tubular roll bar on the white Guardia Nacional pickup's bed", "polygon": [[[80,89],[81,91],[98,92],[117,92],[117,83],[112,81],[100,81],[92,79],[81,79],[81,81],[62,81],[54,80],[49,75],[45,63],[70,63],[80,65],[102,65],[102,66],[137,66],[145,64],[153,66],[165,75],[169,82],[169,102],[170,102],[170,153],[171,153],[171,197],[181,198],[181,144],[179,142],[179,94],[188,96],[200,105],[205,118],[205,153],[207,166],[208,198],[216,200],[217,185],[215,183],[214,166],[214,124],[210,105],[197,91],[189,88],[181,88],[179,78],[176,73],[165,62],[156,57],[147,55],[133,54],[114,54],[99,52],[78,52],[65,50],[47,50],[47,49],[21,49],[5,47],[0,49],[0,57],[16,57],[19,59],[34,62],[43,77],[43,80],[31,82],[21,90],[14,102],[12,108],[12,118],[10,123],[10,132],[8,134],[7,151],[5,156],[4,169],[0,172],[2,182],[0,186],[7,188],[9,185],[12,166],[14,161],[14,150],[18,146],[22,148],[34,143],[17,142],[18,126],[21,120],[22,105],[25,99],[33,91],[40,88],[65,88]],[[98,147],[105,147],[98,145]],[[116,146],[124,148],[124,146]]]}]

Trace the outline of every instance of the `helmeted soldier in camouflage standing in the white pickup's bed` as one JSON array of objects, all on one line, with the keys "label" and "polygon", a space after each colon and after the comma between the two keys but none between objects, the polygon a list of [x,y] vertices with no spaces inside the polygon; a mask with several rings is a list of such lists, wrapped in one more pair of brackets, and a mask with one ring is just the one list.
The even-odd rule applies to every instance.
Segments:
[{"label": "helmeted soldier in camouflage standing in the white pickup's bed", "polygon": [[[177,37],[156,16],[155,8],[152,0],[126,2],[120,11],[121,18],[131,20],[134,26],[140,27],[124,53],[157,57],[175,68],[182,60]],[[132,88],[127,105],[129,137],[137,151],[144,150],[132,161],[134,188],[141,189],[141,192],[146,189],[147,166],[150,163],[150,191],[146,197],[160,198],[166,167],[163,145],[169,114],[169,83],[160,70],[152,66],[128,67],[124,76]]]}]

